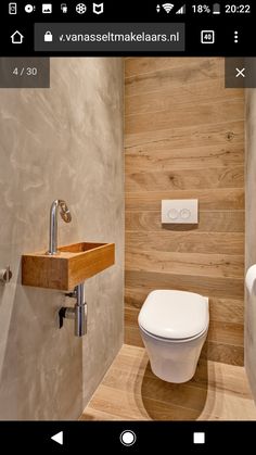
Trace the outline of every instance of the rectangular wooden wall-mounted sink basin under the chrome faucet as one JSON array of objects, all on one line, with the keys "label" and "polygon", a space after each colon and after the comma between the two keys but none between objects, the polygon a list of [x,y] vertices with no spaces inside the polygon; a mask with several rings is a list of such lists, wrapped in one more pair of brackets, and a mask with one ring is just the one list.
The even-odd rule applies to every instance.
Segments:
[{"label": "rectangular wooden wall-mounted sink basin under the chrome faucet", "polygon": [[69,291],[115,263],[114,243],[80,242],[57,251],[23,254],[22,283]]}]

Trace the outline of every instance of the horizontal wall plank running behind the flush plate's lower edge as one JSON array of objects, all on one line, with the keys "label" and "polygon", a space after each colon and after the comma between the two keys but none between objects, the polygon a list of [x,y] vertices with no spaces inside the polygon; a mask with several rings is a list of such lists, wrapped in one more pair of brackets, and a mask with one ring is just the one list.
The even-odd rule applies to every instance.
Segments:
[{"label": "horizontal wall plank running behind the flush plate's lower edge", "polygon": [[[185,226],[164,226],[169,230],[188,230]],[[244,232],[244,211],[201,211],[196,232]],[[163,230],[159,211],[126,211],[126,231]]]}]

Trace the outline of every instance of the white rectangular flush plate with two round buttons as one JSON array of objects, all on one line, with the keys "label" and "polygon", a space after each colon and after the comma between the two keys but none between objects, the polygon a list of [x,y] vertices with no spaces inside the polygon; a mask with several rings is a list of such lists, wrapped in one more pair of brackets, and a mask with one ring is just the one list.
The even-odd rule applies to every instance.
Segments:
[{"label": "white rectangular flush plate with two round buttons", "polygon": [[197,199],[168,199],[162,201],[163,224],[197,224]]}]

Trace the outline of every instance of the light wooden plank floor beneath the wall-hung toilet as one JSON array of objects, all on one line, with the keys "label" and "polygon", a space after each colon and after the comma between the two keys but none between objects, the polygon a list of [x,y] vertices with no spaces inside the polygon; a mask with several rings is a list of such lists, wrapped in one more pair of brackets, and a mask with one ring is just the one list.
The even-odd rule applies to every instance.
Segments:
[{"label": "light wooden plank floor beneath the wall-hung toilet", "polygon": [[256,420],[243,367],[200,361],[184,384],[156,378],[143,347],[124,344],[81,420]]}]

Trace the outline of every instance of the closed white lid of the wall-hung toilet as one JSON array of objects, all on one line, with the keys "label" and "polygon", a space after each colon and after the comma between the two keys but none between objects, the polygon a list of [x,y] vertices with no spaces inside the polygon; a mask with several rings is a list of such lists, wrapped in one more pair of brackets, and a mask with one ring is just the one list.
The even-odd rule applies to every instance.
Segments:
[{"label": "closed white lid of the wall-hung toilet", "polygon": [[208,326],[208,299],[193,292],[151,292],[139,314],[139,325],[162,338],[192,338]]}]

